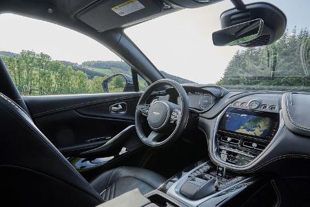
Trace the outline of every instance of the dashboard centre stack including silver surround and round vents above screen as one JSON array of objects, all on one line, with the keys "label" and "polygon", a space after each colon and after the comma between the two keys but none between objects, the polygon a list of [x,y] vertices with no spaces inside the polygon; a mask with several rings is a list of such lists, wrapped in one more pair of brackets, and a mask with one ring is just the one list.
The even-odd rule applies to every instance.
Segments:
[{"label": "dashboard centre stack including silver surround and round vents above screen", "polygon": [[251,95],[231,103],[216,120],[211,152],[216,164],[245,170],[266,155],[283,127],[280,95]]}]

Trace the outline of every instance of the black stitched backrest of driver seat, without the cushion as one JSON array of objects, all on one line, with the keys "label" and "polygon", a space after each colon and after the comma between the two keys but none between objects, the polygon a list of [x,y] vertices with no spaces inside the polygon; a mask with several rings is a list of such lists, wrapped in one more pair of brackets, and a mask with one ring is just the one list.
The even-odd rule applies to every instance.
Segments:
[{"label": "black stitched backrest of driver seat, without the cushion", "polygon": [[35,126],[0,93],[1,203],[96,206],[102,198]]}]

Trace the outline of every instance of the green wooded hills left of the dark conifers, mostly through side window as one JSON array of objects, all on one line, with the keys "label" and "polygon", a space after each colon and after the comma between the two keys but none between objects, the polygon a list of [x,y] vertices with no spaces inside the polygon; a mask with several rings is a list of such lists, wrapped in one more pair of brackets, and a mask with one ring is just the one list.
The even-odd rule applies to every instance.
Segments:
[{"label": "green wooded hills left of the dark conifers, mostly through side window", "polygon": [[[131,68],[123,61],[54,61],[49,55],[23,50],[20,54],[0,51],[10,75],[22,95],[63,95],[103,92],[102,82],[110,75],[131,75]],[[189,83],[174,75],[167,78]],[[121,80],[113,79],[111,92],[121,92]],[[138,77],[139,88],[145,90],[147,83]],[[194,82],[192,82],[194,83]],[[123,83],[124,85],[124,83]]]}]

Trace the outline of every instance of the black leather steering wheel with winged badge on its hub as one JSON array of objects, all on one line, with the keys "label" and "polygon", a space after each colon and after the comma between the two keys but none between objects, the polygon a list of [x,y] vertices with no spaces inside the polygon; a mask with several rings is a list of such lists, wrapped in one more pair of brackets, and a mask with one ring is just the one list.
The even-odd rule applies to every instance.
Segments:
[{"label": "black leather steering wheel with winged badge on its hub", "polygon": [[[149,95],[162,86],[171,86],[178,92],[179,105],[170,101],[154,101],[154,103],[147,104]],[[188,97],[183,86],[171,79],[160,79],[152,83],[138,101],[135,114],[136,132],[147,146],[163,148],[180,137],[187,125],[188,115]],[[145,135],[143,130],[146,124],[151,129],[149,135]]]}]

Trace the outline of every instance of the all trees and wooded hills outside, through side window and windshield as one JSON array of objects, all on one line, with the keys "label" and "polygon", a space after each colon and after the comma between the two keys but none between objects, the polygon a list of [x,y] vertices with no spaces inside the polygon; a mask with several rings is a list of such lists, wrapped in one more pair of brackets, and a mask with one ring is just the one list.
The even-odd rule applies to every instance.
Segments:
[{"label": "all trees and wooded hills outside, through side window and windshield", "polygon": [[[123,61],[85,61],[79,65],[54,61],[30,50],[20,54],[0,51],[0,56],[22,95],[100,93],[102,81],[110,75],[131,75],[130,66]],[[179,83],[194,83],[166,72],[163,75]],[[230,89],[310,91],[309,30],[297,32],[294,28],[270,46],[238,50],[216,83]],[[117,81],[114,84],[116,91],[121,91]],[[146,87],[141,78],[139,86]]]}]

